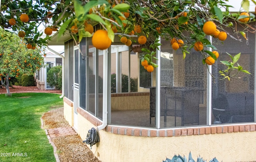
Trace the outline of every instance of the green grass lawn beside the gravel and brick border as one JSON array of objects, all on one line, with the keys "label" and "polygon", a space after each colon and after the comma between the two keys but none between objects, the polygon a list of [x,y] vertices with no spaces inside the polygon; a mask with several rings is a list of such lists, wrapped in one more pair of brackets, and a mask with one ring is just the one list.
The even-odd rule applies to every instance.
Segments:
[{"label": "green grass lawn beside the gravel and brick border", "polygon": [[59,94],[0,94],[0,162],[55,162],[40,118],[62,107]]}]

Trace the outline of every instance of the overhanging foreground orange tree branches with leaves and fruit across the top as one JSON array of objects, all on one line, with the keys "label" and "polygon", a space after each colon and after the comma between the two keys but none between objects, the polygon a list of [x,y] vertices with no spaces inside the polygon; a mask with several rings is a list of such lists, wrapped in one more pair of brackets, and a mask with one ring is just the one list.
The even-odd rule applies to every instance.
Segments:
[{"label": "overhanging foreground orange tree branches with leaves and fruit across the top", "polygon": [[[226,4],[226,1],[2,0],[0,25],[3,28],[12,28],[16,33],[24,31],[24,41],[39,46],[46,45],[52,31],[56,30],[58,38],[68,33],[78,41],[83,37],[98,37],[98,33],[101,33],[104,39],[92,39],[92,43],[98,49],[110,46],[116,35],[120,38],[125,36],[127,40],[123,38],[120,42],[126,40],[124,44],[127,46],[135,42],[144,44],[145,48],[142,50],[145,55],[141,60],[147,60],[148,65],[154,68],[158,66],[153,59],[157,59],[154,55],[155,49],[160,45],[159,38],[174,39],[170,41],[170,46],[174,50],[182,50],[184,58],[190,53],[190,49],[194,48],[204,56],[203,64],[208,64],[206,58],[217,59],[211,52],[217,49],[209,41],[208,36],[218,39],[221,43],[231,36],[226,32],[226,29],[230,28],[232,33],[236,34],[236,38],[232,36],[234,40],[246,41],[246,33],[256,30],[252,23],[249,24],[255,21],[254,13],[249,13],[250,3],[256,4],[254,0],[242,0],[237,13],[229,12],[232,6]],[[95,24],[98,24],[101,31],[92,34],[96,33],[92,28]],[[242,24],[244,29],[238,31],[237,24]],[[44,26],[45,29],[39,30],[39,26]],[[46,38],[40,37],[43,32],[46,33]],[[188,33],[189,36],[184,33]],[[143,41],[138,41],[138,38],[142,38],[140,36],[145,36]],[[102,46],[103,44],[105,46]],[[222,61],[222,64],[227,66],[221,70],[224,78],[230,78],[230,70],[233,69],[249,73],[235,64],[239,57],[240,54],[230,56],[230,61]],[[210,62],[211,65],[214,65],[213,60]]]}]

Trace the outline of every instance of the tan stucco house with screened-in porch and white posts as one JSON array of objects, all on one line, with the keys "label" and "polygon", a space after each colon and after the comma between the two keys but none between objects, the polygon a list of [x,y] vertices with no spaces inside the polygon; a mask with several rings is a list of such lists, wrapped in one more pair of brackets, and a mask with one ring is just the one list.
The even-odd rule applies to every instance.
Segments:
[{"label": "tan stucco house with screened-in porch and white posts", "polygon": [[[111,48],[97,50],[91,38],[76,46],[68,35],[56,37],[49,45],[64,45],[64,118],[81,142],[88,130],[98,129],[100,142],[92,152],[99,160],[160,162],[189,152],[208,161],[256,160],[255,34],[248,33],[249,44],[230,37],[214,44],[220,57],[216,67],[208,67],[216,79],[199,52],[192,49],[183,60],[169,40],[161,40],[159,67],[148,73],[140,65],[140,46],[117,39]],[[218,79],[218,68],[225,68],[220,61],[229,59],[226,52],[241,52],[238,63],[251,75]],[[118,93],[111,93],[113,72]],[[138,76],[138,92],[120,91],[122,73]]]}]

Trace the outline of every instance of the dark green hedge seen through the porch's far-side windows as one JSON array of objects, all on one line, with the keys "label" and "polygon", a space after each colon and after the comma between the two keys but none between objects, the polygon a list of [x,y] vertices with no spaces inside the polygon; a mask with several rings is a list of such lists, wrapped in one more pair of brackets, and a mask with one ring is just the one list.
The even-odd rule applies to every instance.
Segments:
[{"label": "dark green hedge seen through the porch's far-side windows", "polygon": [[[131,92],[138,92],[138,79],[130,78],[130,88]],[[128,76],[122,74],[122,92],[128,92],[129,82]],[[116,74],[111,74],[111,93],[116,93]]]}]

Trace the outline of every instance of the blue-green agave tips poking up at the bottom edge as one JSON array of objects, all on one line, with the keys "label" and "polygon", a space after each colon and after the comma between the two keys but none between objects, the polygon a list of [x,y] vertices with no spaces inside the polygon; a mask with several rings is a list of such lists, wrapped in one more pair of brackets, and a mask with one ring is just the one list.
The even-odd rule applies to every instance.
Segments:
[{"label": "blue-green agave tips poking up at the bottom edge", "polygon": [[[187,158],[184,156],[180,156],[180,155],[174,155],[172,159],[169,159],[169,158],[166,158],[166,160],[163,162],[206,162],[206,160],[204,160],[203,158],[201,158],[200,156],[197,157],[197,160],[195,161],[193,158],[192,158],[192,154],[191,152],[189,152],[189,155],[188,155],[188,160]],[[213,158],[212,160],[210,160],[209,162],[219,162],[216,158]]]}]

